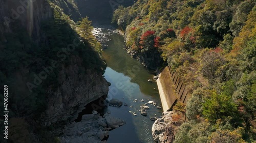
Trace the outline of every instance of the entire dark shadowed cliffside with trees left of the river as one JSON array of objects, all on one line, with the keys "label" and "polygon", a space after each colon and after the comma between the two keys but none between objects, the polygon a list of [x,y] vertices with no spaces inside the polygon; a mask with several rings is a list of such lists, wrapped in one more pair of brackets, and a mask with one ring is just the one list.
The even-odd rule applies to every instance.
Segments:
[{"label": "entire dark shadowed cliffside with trees left of the river", "polygon": [[[9,87],[10,118],[23,118],[39,131],[42,126],[73,121],[86,104],[109,90],[99,53],[91,41],[79,38],[74,22],[58,10],[46,0],[0,0],[0,85]],[[79,39],[79,46],[73,43],[73,52],[62,51],[73,48],[73,39]],[[58,66],[50,67],[53,61]],[[20,133],[29,132],[27,142],[35,142],[30,135],[37,136],[38,129],[29,126]],[[17,139],[22,140],[10,136],[11,141]]]}]

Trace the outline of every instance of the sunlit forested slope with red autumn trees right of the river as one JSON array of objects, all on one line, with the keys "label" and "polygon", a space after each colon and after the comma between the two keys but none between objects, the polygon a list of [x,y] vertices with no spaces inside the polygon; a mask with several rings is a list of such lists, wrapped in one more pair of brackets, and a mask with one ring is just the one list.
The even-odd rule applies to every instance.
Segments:
[{"label": "sunlit forested slope with red autumn trees right of the river", "polygon": [[130,54],[163,59],[193,93],[175,142],[255,142],[255,1],[139,0],[113,22]]}]

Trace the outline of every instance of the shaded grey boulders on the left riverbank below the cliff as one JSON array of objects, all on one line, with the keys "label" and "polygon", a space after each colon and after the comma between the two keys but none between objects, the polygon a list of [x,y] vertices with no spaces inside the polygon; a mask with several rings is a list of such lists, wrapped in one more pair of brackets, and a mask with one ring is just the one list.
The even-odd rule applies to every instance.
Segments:
[{"label": "shaded grey boulders on the left riverbank below the cliff", "polygon": [[72,122],[65,127],[64,133],[59,137],[62,143],[68,142],[93,142],[102,143],[109,136],[109,130],[125,124],[121,119],[104,115],[83,115],[81,122]]}]

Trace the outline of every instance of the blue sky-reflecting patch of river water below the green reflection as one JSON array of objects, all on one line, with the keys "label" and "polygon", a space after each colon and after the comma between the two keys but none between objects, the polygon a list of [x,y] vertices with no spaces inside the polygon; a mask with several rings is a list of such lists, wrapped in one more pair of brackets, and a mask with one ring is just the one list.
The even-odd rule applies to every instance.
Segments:
[{"label": "blue sky-reflecting patch of river water below the green reflection", "polygon": [[[127,86],[129,85],[125,85],[126,82],[130,81],[130,78],[127,76],[124,76],[124,74],[122,73],[118,73],[116,71],[114,71],[111,68],[107,68],[106,69],[106,73],[105,73],[105,78],[113,83],[109,88],[109,94],[108,94],[108,98],[112,99],[119,99],[121,100],[123,103],[127,104],[128,106],[124,106],[122,105],[121,107],[108,107],[109,112],[111,112],[111,116],[116,117],[116,118],[120,118],[122,120],[125,120],[126,124],[114,129],[110,132],[110,136],[108,138],[108,142],[109,143],[130,143],[130,142],[134,142],[134,143],[143,143],[140,141],[137,130],[136,130],[136,125],[134,124],[134,119],[133,119],[133,114],[130,113],[131,109],[130,105],[132,105],[131,100],[129,97],[129,95],[127,95],[128,92],[126,92],[127,90]],[[123,84],[123,86],[121,86],[120,84]]]}]

